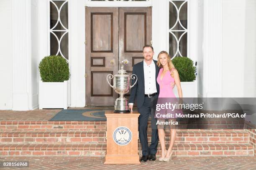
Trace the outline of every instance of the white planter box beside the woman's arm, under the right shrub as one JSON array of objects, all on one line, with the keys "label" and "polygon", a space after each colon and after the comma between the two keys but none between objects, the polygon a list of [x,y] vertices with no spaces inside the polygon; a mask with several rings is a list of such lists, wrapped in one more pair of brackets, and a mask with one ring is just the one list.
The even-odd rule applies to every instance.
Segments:
[{"label": "white planter box beside the woman's arm, under the right shrub", "polygon": [[[197,97],[197,80],[193,82],[180,82],[183,97]],[[177,87],[174,87],[174,94],[179,97]]]}]

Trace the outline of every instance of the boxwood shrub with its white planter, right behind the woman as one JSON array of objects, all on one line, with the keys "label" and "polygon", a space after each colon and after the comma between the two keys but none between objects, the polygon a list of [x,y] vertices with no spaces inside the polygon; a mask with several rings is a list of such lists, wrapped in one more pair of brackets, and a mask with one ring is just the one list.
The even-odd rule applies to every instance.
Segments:
[{"label": "boxwood shrub with its white planter, right behind the woman", "polygon": [[[183,97],[197,97],[196,67],[194,62],[188,57],[174,57],[172,62],[179,72]],[[176,86],[174,87],[174,94],[179,96]]]}]

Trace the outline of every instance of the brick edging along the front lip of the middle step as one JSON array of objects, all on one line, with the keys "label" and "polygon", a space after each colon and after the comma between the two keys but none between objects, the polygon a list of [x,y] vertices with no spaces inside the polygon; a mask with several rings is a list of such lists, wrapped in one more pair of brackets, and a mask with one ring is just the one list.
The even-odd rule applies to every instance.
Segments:
[{"label": "brick edging along the front lip of the middle step", "polygon": [[[151,131],[148,132],[148,137]],[[169,133],[166,133],[169,136]],[[177,131],[177,137],[248,137],[246,131]],[[105,131],[54,131],[54,132],[30,132],[30,131],[5,131],[0,132],[1,138],[15,137],[105,137]]]}]

